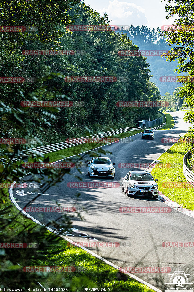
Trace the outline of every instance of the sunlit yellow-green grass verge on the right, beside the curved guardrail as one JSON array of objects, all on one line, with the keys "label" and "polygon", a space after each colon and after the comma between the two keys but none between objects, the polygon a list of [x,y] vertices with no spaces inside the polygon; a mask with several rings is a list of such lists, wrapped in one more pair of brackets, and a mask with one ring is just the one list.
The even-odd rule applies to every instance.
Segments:
[{"label": "sunlit yellow-green grass verge on the right, beside the curved guardrail", "polygon": [[[187,136],[188,133],[184,135]],[[183,174],[183,157],[185,155],[186,144],[176,143],[168,151],[159,157],[157,168],[153,168],[152,175],[157,178],[159,191],[172,201],[180,204],[184,208],[194,211],[194,189],[191,187],[165,187],[168,182],[186,182]],[[159,168],[160,164],[170,163],[170,168]],[[176,165],[177,164],[177,165]],[[178,167],[177,167],[178,166]]]}]

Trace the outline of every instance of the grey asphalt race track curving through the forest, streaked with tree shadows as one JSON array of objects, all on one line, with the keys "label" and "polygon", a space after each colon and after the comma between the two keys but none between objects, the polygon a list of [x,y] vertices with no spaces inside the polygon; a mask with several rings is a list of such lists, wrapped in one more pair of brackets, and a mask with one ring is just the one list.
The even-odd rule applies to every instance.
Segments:
[{"label": "grey asphalt race track curving through the forest, streaked with tree shadows", "polygon": [[[171,114],[175,119],[175,127],[169,131],[155,131],[154,140],[141,140],[141,133],[139,133],[131,137],[133,140],[131,142],[103,146],[104,150],[112,152],[113,156],[109,157],[116,163],[114,180],[89,178],[87,168],[81,168],[82,182],[97,182],[98,185],[104,183],[105,186],[111,184],[112,187],[93,187],[90,184],[89,187],[70,187],[75,185],[70,183],[79,182],[79,180],[74,176],[65,175],[63,182],[58,186],[50,187],[46,194],[42,194],[31,206],[56,206],[56,201],[61,206],[72,206],[76,201],[75,194],[80,193],[77,210],[81,210],[81,215],[86,220],[81,221],[75,218],[72,224],[75,230],[66,233],[66,237],[79,242],[119,242],[119,247],[116,247],[117,244],[115,247],[114,245],[113,247],[86,247],[120,267],[168,267],[165,271],[169,272],[170,268],[172,273],[175,270],[182,270],[186,274],[191,274],[192,280],[194,276],[193,249],[165,248],[162,243],[194,241],[193,218],[180,212],[173,212],[173,210],[170,213],[127,214],[119,211],[120,207],[168,207],[158,199],[127,197],[121,189],[122,179],[129,170],[137,168],[125,169],[119,168],[118,165],[126,162],[150,164],[173,145],[173,143],[163,143],[162,138],[178,138],[179,135],[184,135],[191,126],[183,121],[185,112]],[[72,168],[72,174],[79,175],[76,168]],[[28,182],[29,177],[26,176],[25,180]],[[23,189],[23,196],[18,190],[21,189],[14,189],[13,195],[17,204],[24,208],[35,195],[41,193],[41,186],[37,189],[32,184],[28,184],[28,187]],[[83,208],[87,212],[82,211]],[[56,212],[27,213],[44,223],[48,219],[56,219],[59,216]],[[82,234],[76,234],[79,232],[77,230]],[[135,275],[164,290],[168,273],[140,271]]]}]

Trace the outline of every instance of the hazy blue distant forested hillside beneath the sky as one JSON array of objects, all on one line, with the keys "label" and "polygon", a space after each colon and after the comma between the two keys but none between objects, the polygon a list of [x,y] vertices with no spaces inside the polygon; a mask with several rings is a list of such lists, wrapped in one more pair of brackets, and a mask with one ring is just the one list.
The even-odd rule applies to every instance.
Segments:
[{"label": "hazy blue distant forested hillside beneath the sky", "polygon": [[[113,31],[122,33],[127,33],[127,36],[131,39],[132,43],[139,46],[140,50],[147,51],[168,51],[174,46],[169,46],[169,43],[165,39],[165,35],[161,34],[161,29],[158,27],[156,29],[150,29],[146,25],[140,27],[137,25],[131,25],[126,30],[125,27],[113,27]],[[175,88],[182,86],[178,82],[161,82],[159,78],[161,76],[177,76],[174,72],[175,68],[178,66],[178,61],[168,60],[166,62],[165,57],[161,56],[147,56],[147,62],[149,63],[150,71],[152,74],[151,82],[154,82],[159,88],[161,95],[165,95],[166,92],[169,92],[171,95]]]}]

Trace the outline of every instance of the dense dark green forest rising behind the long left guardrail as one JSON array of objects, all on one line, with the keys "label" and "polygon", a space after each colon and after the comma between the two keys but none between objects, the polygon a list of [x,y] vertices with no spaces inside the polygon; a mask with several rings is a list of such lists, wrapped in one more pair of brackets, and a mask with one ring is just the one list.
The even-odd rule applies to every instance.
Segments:
[{"label": "dense dark green forest rising behind the long left guardrail", "polygon": [[[108,16],[101,16],[85,4],[76,4],[69,11],[74,25],[107,25]],[[40,21],[40,19],[38,19]],[[49,21],[48,21],[49,22]],[[11,20],[5,12],[2,25],[21,23],[20,15]],[[31,22],[29,22],[29,25]],[[46,24],[35,32],[3,32],[0,37],[1,76],[34,77],[35,83],[0,83],[1,101],[10,107],[20,107],[23,100],[64,100],[82,102],[82,106],[61,107],[54,110],[55,119],[47,115],[51,127],[44,126],[39,139],[44,144],[64,141],[67,137],[81,136],[86,128],[106,131],[106,127],[138,126],[138,120],[147,119],[147,108],[120,108],[118,101],[157,101],[160,92],[151,77],[149,64],[143,57],[121,57],[119,50],[138,50],[126,34],[113,31],[70,31],[66,25],[56,23],[56,30]],[[49,32],[49,33],[48,33]],[[51,34],[51,36],[49,35]],[[71,50],[73,55],[24,55],[25,50]],[[55,73],[52,74],[52,72]],[[48,77],[49,76],[49,77]],[[125,77],[121,82],[65,82],[63,76],[115,76]],[[42,93],[37,88],[42,87]],[[45,91],[50,93],[46,93]],[[157,109],[150,110],[155,119]],[[42,117],[51,112],[49,107],[28,108]],[[0,122],[3,128],[3,121]],[[34,124],[29,135],[36,135]],[[106,126],[106,127],[105,127]],[[20,137],[19,129],[11,124],[4,128],[7,138]]]}]

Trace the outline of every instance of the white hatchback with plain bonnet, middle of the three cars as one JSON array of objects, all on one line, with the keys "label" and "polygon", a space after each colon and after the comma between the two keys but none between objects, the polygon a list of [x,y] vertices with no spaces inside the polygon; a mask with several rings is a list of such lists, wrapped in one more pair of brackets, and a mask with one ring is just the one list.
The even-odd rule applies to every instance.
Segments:
[{"label": "white hatchback with plain bonnet, middle of the three cars", "polygon": [[88,175],[91,176],[108,176],[115,178],[115,163],[112,163],[108,157],[93,157],[88,162]]}]

